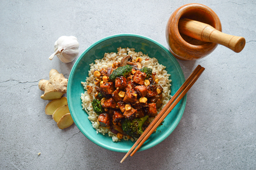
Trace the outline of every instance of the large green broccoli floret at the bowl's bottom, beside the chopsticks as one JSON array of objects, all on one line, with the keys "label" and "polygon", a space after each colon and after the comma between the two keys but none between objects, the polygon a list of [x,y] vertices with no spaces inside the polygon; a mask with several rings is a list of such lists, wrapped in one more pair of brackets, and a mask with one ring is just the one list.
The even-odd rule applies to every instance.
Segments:
[{"label": "large green broccoli floret at the bowl's bottom, beside the chopsticks", "polygon": [[135,118],[134,120],[126,119],[122,123],[123,132],[125,132],[126,135],[132,136],[133,138],[140,138],[140,135],[143,133],[141,128],[147,118],[148,115],[143,118]]}]

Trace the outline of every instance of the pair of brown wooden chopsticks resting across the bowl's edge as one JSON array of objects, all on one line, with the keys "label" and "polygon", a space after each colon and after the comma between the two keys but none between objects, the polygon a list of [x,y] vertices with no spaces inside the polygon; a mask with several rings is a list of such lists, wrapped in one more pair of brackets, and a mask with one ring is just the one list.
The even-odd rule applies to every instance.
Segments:
[{"label": "pair of brown wooden chopsticks resting across the bowl's edge", "polygon": [[121,163],[125,161],[125,159],[130,154],[131,157],[136,153],[138,149],[143,145],[143,143],[150,137],[150,135],[157,129],[157,127],[162,123],[165,117],[170,113],[170,111],[176,106],[177,103],[186,95],[191,86],[194,85],[195,81],[200,77],[202,72],[204,71],[204,67],[200,65],[195,68],[193,73],[187,78],[184,84],[179,88],[179,90],[173,95],[173,97],[169,100],[169,102],[163,107],[163,109],[159,112],[157,117],[148,125],[147,129],[141,134],[140,138],[133,144],[131,149],[127,152],[125,157],[120,161]]}]

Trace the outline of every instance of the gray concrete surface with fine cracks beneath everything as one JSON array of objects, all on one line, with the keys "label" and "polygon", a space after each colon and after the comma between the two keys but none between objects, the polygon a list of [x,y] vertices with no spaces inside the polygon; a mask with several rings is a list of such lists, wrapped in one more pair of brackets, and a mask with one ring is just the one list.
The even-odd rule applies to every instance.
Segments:
[{"label": "gray concrete surface with fine cracks beneath everything", "polygon": [[[218,45],[211,55],[181,61],[187,78],[201,64],[180,124],[162,143],[128,157],[102,149],[76,127],[58,129],[45,115],[38,81],[51,68],[69,77],[73,63],[48,60],[62,35],[80,53],[101,38],[131,33],[168,47],[165,26],[186,3],[219,16],[223,32],[246,38],[240,53]],[[0,169],[255,169],[255,1],[0,1]],[[41,155],[38,156],[38,153]]]}]

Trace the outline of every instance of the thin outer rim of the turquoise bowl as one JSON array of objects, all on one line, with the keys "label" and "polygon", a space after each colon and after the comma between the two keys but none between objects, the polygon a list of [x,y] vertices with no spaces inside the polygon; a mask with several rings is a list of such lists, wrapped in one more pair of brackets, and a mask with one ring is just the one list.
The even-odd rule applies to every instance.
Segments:
[{"label": "thin outer rim of the turquoise bowl", "polygon": [[[102,38],[102,39],[99,39],[98,41],[94,42],[92,45],[90,45],[86,50],[84,50],[83,53],[81,53],[81,55],[79,56],[79,58],[76,60],[76,62],[74,63],[73,67],[72,67],[72,70],[70,71],[70,75],[69,75],[69,79],[73,79],[73,75],[74,75],[74,70],[76,70],[76,67],[78,66],[78,64],[80,63],[80,60],[83,58],[83,56],[88,52],[90,51],[92,48],[94,48],[94,46],[100,44],[101,42],[104,42],[108,39],[111,39],[111,38],[116,38],[116,37],[137,37],[137,38],[142,38],[142,39],[146,39],[147,41],[150,41],[152,43],[154,43],[155,45],[158,45],[160,48],[162,48],[163,50],[165,50],[166,53],[168,53],[170,56],[173,56],[172,53],[170,53],[170,51],[168,49],[165,48],[165,46],[159,44],[157,41],[154,41],[153,39],[151,38],[148,38],[148,37],[144,37],[143,35],[138,35],[138,34],[115,34],[115,35],[111,35],[111,36],[108,36],[108,37],[105,37],[105,38]],[[173,57],[173,59],[175,59],[175,57]],[[177,60],[173,60],[174,64],[179,66],[180,67],[180,64],[177,62]],[[181,77],[183,79],[183,81],[185,81],[185,78],[184,78],[184,73],[181,69]],[[72,103],[71,102],[71,94],[70,94],[70,89],[71,88],[71,82],[68,81],[67,82],[67,103]],[[156,146],[157,144],[161,143],[163,140],[165,140],[173,131],[174,129],[176,128],[176,126],[179,124],[181,118],[182,118],[182,115],[184,113],[184,109],[186,107],[186,102],[187,102],[187,94],[183,97],[182,99],[182,104],[181,104],[181,107],[180,107],[180,110],[179,110],[179,113],[177,115],[177,118],[176,120],[173,122],[173,125],[172,125],[172,128],[170,130],[170,133],[168,135],[165,135],[163,136],[161,139],[157,140],[156,142],[154,142],[154,144],[148,144],[147,146],[143,146],[140,148],[140,150],[138,151],[143,151],[143,150],[147,150],[147,149],[150,149],[151,147],[153,146]],[[74,123],[76,124],[79,124],[76,119],[74,119],[74,115],[72,113],[73,111],[73,106],[69,106],[70,108],[70,114],[72,115],[72,118],[74,120]],[[90,136],[90,134],[84,132],[81,130],[81,127],[80,126],[77,126],[77,128],[79,128],[80,132],[83,133],[84,136],[86,136],[89,140],[91,140],[91,142],[97,144],[98,146],[101,146],[103,147],[104,149],[108,149],[108,150],[112,150],[112,151],[117,151],[117,152],[122,152],[122,153],[125,153],[127,152],[128,150],[120,150],[120,149],[116,149],[114,147],[111,147],[111,146],[107,146],[107,145],[104,145],[102,143],[99,143],[98,140],[95,140],[93,137]],[[96,133],[96,132],[95,132]]]}]

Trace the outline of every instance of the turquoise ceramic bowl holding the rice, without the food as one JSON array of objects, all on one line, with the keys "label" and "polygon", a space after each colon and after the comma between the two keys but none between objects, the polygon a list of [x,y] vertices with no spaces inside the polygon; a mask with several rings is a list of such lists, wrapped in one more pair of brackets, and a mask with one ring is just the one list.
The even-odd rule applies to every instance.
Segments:
[{"label": "turquoise ceramic bowl holding the rice, without the food", "polygon": [[[156,57],[159,63],[166,66],[166,70],[171,74],[172,79],[171,95],[175,94],[185,79],[182,68],[180,68],[179,63],[169,50],[158,42],[141,35],[120,34],[106,37],[95,42],[80,55],[74,63],[67,84],[67,102],[74,123],[88,139],[98,144],[98,146],[112,151],[127,152],[133,146],[134,142],[125,140],[122,140],[122,142],[112,142],[112,138],[108,137],[108,135],[97,134],[93,126],[91,126],[91,122],[88,120],[86,111],[82,110],[80,99],[81,93],[84,93],[81,82],[86,81],[90,68],[89,64],[94,63],[95,59],[101,59],[105,52],[117,52],[117,48],[119,47],[135,48],[137,52],[141,51],[150,57]],[[186,99],[187,97],[184,96],[165,118],[163,125],[159,126],[157,132],[152,134],[143,144],[140,151],[157,145],[172,133],[182,118]]]}]

